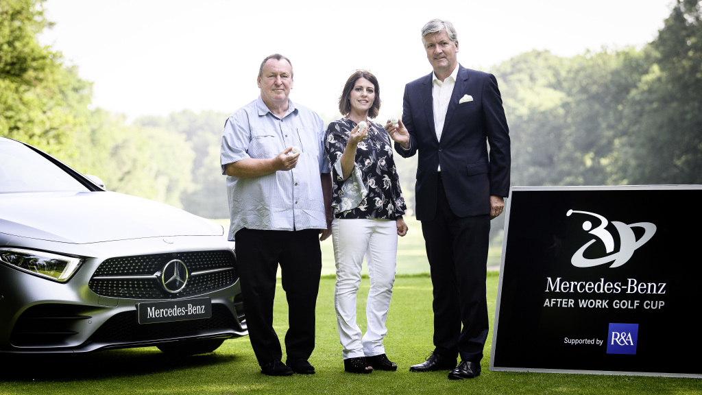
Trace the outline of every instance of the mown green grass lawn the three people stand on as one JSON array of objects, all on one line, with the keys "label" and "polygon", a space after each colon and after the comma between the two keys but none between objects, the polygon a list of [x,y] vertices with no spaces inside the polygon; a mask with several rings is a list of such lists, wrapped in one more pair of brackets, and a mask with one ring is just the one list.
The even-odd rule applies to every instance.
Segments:
[{"label": "mown green grass lawn the three people stand on", "polygon": [[[491,328],[498,273],[487,279]],[[362,281],[359,317],[365,316],[369,280]],[[2,356],[0,394],[701,394],[702,380],[670,377],[490,372],[492,333],[482,375],[451,381],[446,372],[410,373],[432,350],[431,280],[399,276],[388,314],[385,349],[397,372],[353,375],[343,371],[333,309],[334,279],[322,278],[317,303],[316,375],[267,377],[249,338],[230,339],[213,354],[173,358],[155,348],[64,356]],[[287,307],[277,288],[275,328],[285,334]],[[364,323],[364,320],[361,320]],[[157,325],[157,324],[154,324]],[[364,325],[362,324],[362,327]],[[662,345],[663,347],[663,345]],[[670,343],[667,347],[679,347]],[[691,356],[696,358],[696,356]],[[665,363],[665,361],[661,361]]]}]

